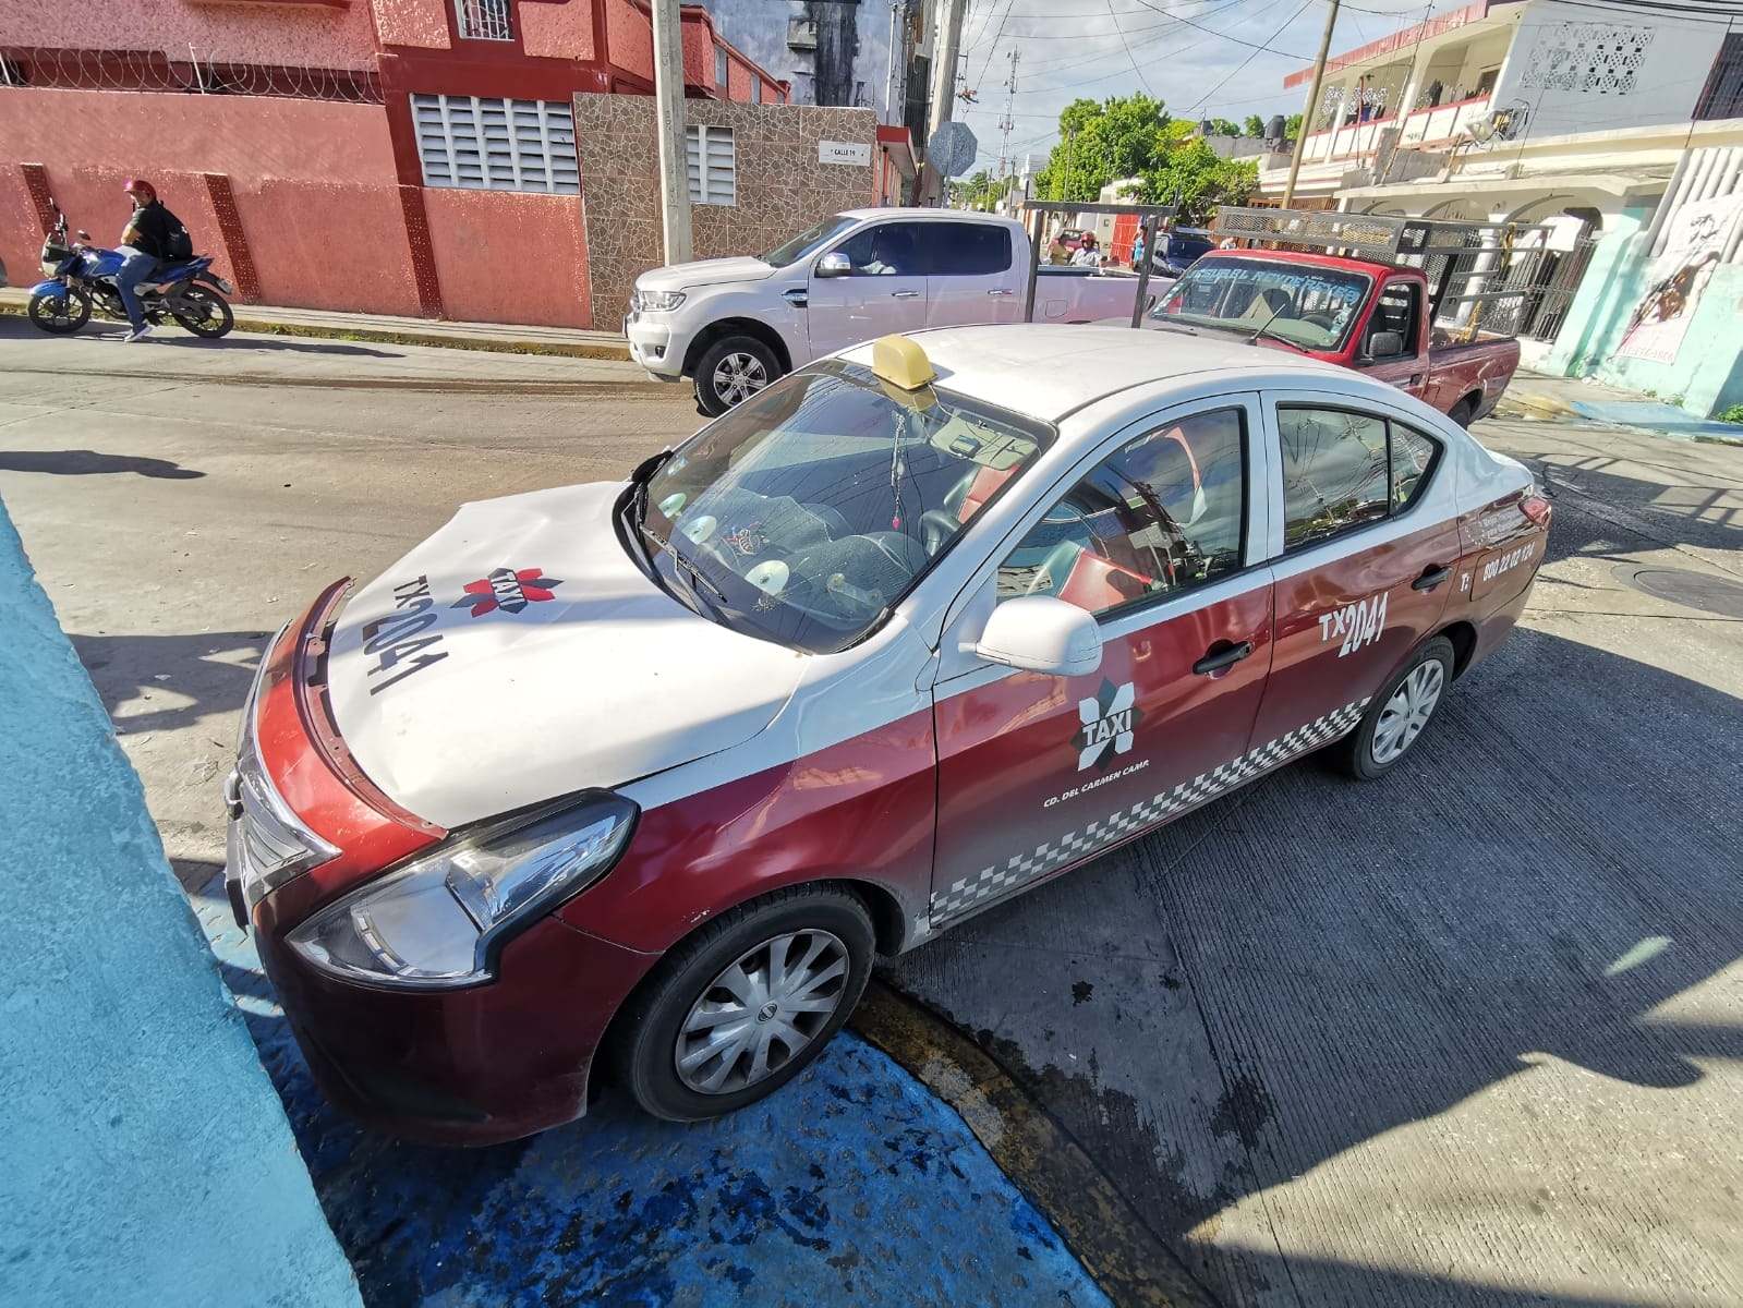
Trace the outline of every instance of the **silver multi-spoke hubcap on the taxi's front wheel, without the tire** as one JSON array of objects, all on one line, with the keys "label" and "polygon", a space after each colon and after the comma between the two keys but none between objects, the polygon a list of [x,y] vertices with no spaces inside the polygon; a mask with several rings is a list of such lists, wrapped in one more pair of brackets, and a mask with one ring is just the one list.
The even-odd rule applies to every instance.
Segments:
[{"label": "silver multi-spoke hubcap on the taxi's front wheel, without the tire", "polygon": [[678,1080],[730,1095],[774,1076],[842,1005],[847,945],[795,931],[751,949],[702,991],[678,1031]]}]

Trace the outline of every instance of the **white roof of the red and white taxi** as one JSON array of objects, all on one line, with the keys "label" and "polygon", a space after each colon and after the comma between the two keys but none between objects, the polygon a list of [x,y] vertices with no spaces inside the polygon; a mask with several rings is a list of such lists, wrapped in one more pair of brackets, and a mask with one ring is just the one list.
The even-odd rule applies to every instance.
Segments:
[{"label": "white roof of the red and white taxi", "polygon": [[[1279,373],[1349,384],[1353,375],[1319,359],[1253,347],[1224,337],[1133,331],[1129,326],[1020,323],[908,333],[946,391],[1058,422],[1098,399],[1154,382],[1187,382],[1215,371]],[[872,345],[844,358],[872,363]]]}]

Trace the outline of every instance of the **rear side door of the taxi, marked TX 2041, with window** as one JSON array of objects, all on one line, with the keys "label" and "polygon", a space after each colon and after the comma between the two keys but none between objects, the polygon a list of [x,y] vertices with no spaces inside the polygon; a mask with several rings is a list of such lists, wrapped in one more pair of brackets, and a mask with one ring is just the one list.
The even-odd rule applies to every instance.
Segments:
[{"label": "rear side door of the taxi, marked TX 2041, with window", "polygon": [[1255,739],[1340,734],[1447,610],[1452,467],[1438,438],[1367,401],[1276,392],[1265,412],[1278,612]]}]

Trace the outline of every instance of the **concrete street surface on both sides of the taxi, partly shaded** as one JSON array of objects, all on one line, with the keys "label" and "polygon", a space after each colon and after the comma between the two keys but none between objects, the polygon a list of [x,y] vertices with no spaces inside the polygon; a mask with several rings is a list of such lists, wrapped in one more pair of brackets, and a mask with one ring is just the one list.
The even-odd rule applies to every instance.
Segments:
[{"label": "concrete street surface on both sides of the taxi, partly shaded", "polygon": [[[0,497],[190,889],[263,633],[697,424],[626,364],[26,333]],[[1743,605],[1623,576],[1743,584],[1743,448],[1478,434],[1544,467],[1550,562],[1400,771],[1288,767],[885,975],[1225,1303],[1738,1303]]]}]

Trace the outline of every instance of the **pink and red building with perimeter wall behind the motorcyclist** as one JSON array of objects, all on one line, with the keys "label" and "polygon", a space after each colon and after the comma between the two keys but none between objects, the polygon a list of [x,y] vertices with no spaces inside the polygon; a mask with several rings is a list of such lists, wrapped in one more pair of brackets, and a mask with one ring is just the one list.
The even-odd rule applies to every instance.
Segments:
[{"label": "pink and red building with perimeter wall behind the motorcyclist", "polygon": [[[790,87],[685,5],[692,98]],[[641,0],[0,0],[0,260],[150,178],[249,302],[591,326],[575,94],[650,94]]]}]

